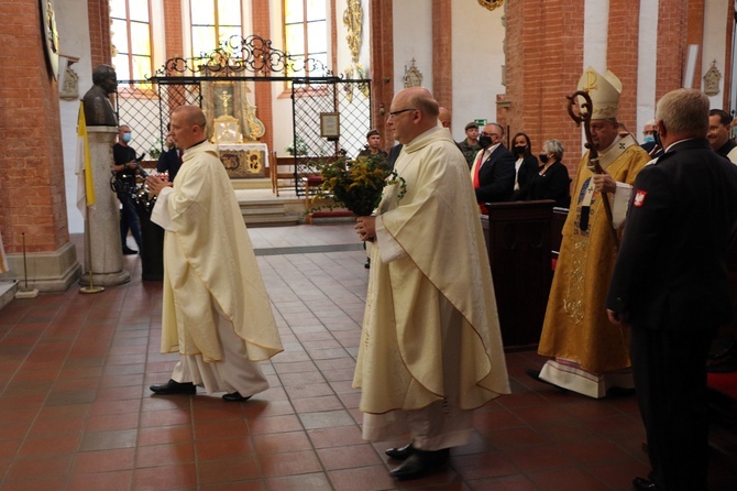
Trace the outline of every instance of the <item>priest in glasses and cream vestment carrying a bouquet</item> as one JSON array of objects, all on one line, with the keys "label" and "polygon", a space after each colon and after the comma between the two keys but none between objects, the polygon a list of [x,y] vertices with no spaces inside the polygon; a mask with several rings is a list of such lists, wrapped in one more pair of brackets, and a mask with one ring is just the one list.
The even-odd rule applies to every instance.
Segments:
[{"label": "priest in glasses and cream vestment carrying a bouquet", "polygon": [[[396,479],[439,468],[465,445],[473,410],[509,393],[496,301],[469,167],[438,127],[427,89],[397,94],[388,124],[404,144],[374,217],[369,292],[353,385],[367,440],[408,438],[386,452]],[[406,441],[406,440],[405,440]]]}]

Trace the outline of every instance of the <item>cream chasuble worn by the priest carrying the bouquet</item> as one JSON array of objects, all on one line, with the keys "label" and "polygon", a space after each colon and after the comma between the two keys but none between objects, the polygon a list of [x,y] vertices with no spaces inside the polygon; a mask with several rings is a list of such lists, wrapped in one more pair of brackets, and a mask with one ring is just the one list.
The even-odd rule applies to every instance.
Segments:
[{"label": "cream chasuble worn by the priest carrying the bouquet", "polygon": [[[446,368],[460,390],[458,405],[480,407],[509,393],[509,383],[469,167],[450,132],[438,129],[405,145],[395,168],[407,192],[399,199],[398,186],[384,189],[377,222],[402,253],[382,261],[381,236],[371,250],[353,379],[360,408],[383,414],[442,401],[443,332],[460,337],[460,364]],[[460,313],[454,325],[443,316],[447,302]]]}]

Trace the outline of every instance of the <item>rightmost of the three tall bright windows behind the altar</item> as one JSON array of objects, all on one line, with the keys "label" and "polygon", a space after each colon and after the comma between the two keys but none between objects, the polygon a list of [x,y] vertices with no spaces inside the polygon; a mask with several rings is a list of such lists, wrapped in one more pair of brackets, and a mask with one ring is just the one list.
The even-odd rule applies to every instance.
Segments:
[{"label": "rightmost of the three tall bright windows behind the altar", "polygon": [[[329,0],[284,0],[284,51],[297,58],[315,58],[328,65]],[[309,67],[289,70],[289,76],[309,76]],[[322,75],[322,74],[319,74]]]}]

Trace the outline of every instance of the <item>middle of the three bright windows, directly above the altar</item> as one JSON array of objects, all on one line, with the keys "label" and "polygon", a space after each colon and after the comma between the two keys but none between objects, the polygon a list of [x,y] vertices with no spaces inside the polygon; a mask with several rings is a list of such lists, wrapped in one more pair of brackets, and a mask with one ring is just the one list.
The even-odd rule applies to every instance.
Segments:
[{"label": "middle of the three bright windows, directly above the altar", "polygon": [[190,0],[191,55],[210,53],[233,35],[242,37],[242,12],[241,0]]}]

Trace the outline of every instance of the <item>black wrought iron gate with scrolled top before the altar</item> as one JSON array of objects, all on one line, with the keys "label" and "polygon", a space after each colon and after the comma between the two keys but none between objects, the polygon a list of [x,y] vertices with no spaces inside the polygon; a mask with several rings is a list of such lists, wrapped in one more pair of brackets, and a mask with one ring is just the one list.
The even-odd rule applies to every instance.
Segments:
[{"label": "black wrought iron gate with scrolled top before the altar", "polygon": [[[170,111],[182,105],[202,107],[202,84],[211,81],[284,81],[290,88],[297,196],[304,193],[300,177],[309,172],[298,156],[356,156],[365,146],[372,124],[371,79],[338,77],[316,59],[272,47],[268,40],[235,36],[207,55],[170,58],[146,80],[119,81],[119,121],[134,127],[136,150],[157,159]],[[320,131],[324,114],[339,114],[337,139]]]}]

